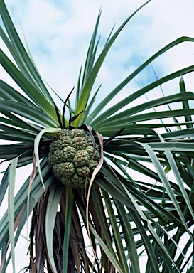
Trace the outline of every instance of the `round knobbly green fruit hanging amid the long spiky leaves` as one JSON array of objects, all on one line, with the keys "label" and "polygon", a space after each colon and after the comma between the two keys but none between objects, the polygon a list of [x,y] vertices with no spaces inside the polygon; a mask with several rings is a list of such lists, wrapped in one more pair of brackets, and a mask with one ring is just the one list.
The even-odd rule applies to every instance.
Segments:
[{"label": "round knobbly green fruit hanging amid the long spiky leaves", "polygon": [[98,146],[95,144],[94,149],[90,134],[84,129],[62,129],[49,147],[48,164],[55,177],[72,188],[89,185],[99,159]]}]

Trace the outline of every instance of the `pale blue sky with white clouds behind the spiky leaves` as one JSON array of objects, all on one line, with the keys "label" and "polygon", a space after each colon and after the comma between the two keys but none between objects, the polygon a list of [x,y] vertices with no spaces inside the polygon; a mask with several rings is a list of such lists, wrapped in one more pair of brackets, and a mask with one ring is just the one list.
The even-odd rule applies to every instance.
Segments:
[{"label": "pale blue sky with white clouds behind the spiky leaves", "polygon": [[[99,9],[102,7],[99,23],[99,35],[102,41],[100,47],[102,48],[114,24],[116,30],[141,4],[144,4],[144,1],[6,1],[17,31],[23,41],[24,33],[31,55],[43,79],[63,100],[77,83],[80,66],[84,65]],[[104,94],[112,91],[135,68],[168,43],[180,36],[194,37],[193,11],[193,0],[151,0],[131,18],[109,51],[97,77],[97,85],[102,83],[98,100],[102,100]],[[0,45],[9,55],[1,41]],[[131,82],[117,100],[126,95],[126,92],[132,92],[150,80],[156,80],[156,75],[163,77],[192,65],[193,61],[194,43],[176,46],[153,62],[154,70],[150,66],[136,77],[136,81]],[[2,68],[0,68],[0,75],[2,80],[11,82]],[[184,78],[187,90],[193,91],[193,73],[185,75]],[[178,92],[179,80],[163,85],[163,92],[166,95]],[[148,94],[148,97],[157,97],[159,92],[161,90],[155,90]],[[4,169],[4,166],[0,166],[0,171],[2,168]],[[20,173],[18,178],[21,178]],[[24,232],[23,235],[26,236],[26,233]],[[25,240],[22,244],[23,242]],[[22,264],[28,264],[28,259],[24,258],[25,255],[22,257],[19,252],[16,253],[16,272],[22,268]]]}]

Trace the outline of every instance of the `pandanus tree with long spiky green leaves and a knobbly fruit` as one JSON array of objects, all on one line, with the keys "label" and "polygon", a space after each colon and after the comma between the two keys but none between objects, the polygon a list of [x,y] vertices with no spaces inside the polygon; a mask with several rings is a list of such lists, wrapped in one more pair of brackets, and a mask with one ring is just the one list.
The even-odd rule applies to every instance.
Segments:
[{"label": "pandanus tree with long spiky green leaves and a knobbly fruit", "polygon": [[[14,250],[28,221],[25,272],[139,273],[142,255],[145,272],[194,272],[194,95],[183,80],[194,65],[107,107],[153,60],[194,39],[180,37],[161,48],[96,103],[102,63],[143,6],[110,33],[101,51],[99,11],[72,90],[75,102],[67,92],[59,109],[0,0],[0,35],[12,56],[0,50],[0,63],[16,83],[0,81],[0,138],[9,141],[0,145],[1,163],[9,162],[0,184],[0,203],[8,198],[0,220],[1,272],[11,260],[16,272]],[[177,77],[180,92],[129,106]],[[177,109],[173,102],[180,102]],[[28,164],[32,171],[15,195],[16,169]]]}]

